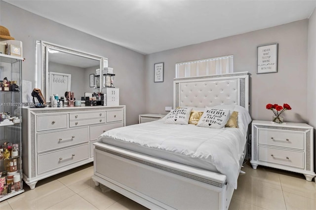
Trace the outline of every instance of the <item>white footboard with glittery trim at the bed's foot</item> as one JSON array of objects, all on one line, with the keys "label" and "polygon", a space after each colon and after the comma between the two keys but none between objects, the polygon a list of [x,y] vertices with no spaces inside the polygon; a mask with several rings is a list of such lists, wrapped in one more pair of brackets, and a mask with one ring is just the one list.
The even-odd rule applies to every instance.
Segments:
[{"label": "white footboard with glittery trim at the bed's foot", "polygon": [[150,209],[228,209],[234,189],[226,176],[94,144],[96,185],[103,185]]}]

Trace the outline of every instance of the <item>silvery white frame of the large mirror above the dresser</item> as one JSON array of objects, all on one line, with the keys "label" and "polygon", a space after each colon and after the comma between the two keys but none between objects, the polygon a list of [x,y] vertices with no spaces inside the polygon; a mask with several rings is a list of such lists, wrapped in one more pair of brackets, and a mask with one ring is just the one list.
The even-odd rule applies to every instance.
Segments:
[{"label": "silvery white frame of the large mirror above the dresser", "polygon": [[[53,44],[47,41],[43,40],[37,40],[36,41],[36,87],[40,87],[42,94],[44,95],[44,98],[46,102],[50,102],[48,89],[49,89],[49,83],[48,83],[48,50],[57,50],[64,53],[73,54],[76,56],[81,56],[84,58],[93,59],[100,62],[100,69],[103,70],[103,68],[108,67],[108,59],[104,58],[102,56],[94,55],[91,53],[82,52],[79,50],[75,50],[72,48],[68,48],[65,46],[61,46],[58,44]],[[100,77],[100,84],[102,84],[102,76]],[[99,92],[102,92],[102,87],[100,85]]]}]

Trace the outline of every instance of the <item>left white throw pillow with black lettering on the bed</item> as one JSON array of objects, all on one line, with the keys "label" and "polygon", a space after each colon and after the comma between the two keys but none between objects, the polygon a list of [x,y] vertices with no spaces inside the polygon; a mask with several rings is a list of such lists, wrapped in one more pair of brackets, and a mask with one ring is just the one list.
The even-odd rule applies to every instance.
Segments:
[{"label": "left white throw pillow with black lettering on the bed", "polygon": [[188,124],[192,108],[175,108],[170,111],[164,123],[166,124]]}]

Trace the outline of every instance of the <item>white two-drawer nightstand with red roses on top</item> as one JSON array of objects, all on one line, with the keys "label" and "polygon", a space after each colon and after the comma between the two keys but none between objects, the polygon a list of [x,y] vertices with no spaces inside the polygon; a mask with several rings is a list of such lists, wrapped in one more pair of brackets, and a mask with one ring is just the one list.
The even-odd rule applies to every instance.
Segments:
[{"label": "white two-drawer nightstand with red roses on top", "polygon": [[312,181],[314,172],[314,128],[305,123],[284,124],[252,121],[251,160],[258,165],[304,174]]}]

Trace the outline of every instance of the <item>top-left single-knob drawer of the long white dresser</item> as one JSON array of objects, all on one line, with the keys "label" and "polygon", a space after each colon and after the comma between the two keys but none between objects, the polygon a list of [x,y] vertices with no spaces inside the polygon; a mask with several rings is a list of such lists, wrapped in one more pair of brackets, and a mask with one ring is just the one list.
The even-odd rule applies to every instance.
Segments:
[{"label": "top-left single-knob drawer of the long white dresser", "polygon": [[38,131],[67,128],[67,114],[39,115],[37,120]]}]

